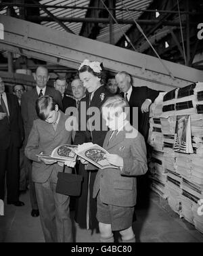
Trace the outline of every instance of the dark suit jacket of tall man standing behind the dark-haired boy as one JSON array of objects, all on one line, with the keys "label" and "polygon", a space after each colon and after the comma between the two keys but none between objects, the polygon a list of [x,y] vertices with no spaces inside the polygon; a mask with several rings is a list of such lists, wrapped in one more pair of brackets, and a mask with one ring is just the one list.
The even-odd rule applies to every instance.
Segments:
[{"label": "dark suit jacket of tall man standing behind the dark-haired boy", "polygon": [[[62,95],[59,91],[52,87],[46,87],[45,95],[50,95],[53,97],[55,102],[58,104],[59,108],[62,110]],[[24,131],[25,131],[25,140],[28,139],[28,135],[32,129],[32,124],[35,119],[38,119],[37,112],[35,109],[36,100],[39,98],[37,94],[36,87],[33,88],[31,91],[26,91],[23,93],[22,100],[21,100],[21,112],[22,112],[22,119],[24,123]],[[26,144],[26,142],[25,142]]]}]

